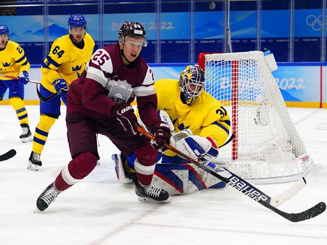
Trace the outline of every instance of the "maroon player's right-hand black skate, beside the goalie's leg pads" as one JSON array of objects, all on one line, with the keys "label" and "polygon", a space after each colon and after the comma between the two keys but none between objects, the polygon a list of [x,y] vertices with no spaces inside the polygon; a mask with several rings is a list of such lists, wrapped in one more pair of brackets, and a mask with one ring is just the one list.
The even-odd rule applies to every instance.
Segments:
[{"label": "maroon player's right-hand black skate, beside the goalie's leg pads", "polygon": [[136,175],[133,178],[133,182],[135,184],[135,193],[138,195],[138,201],[170,203],[169,193],[166,190],[155,188],[151,185],[144,188],[138,183]]}]

